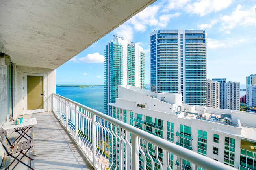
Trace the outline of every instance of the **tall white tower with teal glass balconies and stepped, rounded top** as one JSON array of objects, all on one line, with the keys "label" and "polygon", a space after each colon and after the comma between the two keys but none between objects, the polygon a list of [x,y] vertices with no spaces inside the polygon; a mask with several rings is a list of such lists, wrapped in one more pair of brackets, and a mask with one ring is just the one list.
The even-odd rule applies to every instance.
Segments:
[{"label": "tall white tower with teal glass balconies and stepped, rounded top", "polygon": [[145,54],[138,43],[127,38],[114,36],[104,53],[105,107],[104,113],[111,114],[108,103],[115,102],[117,86],[133,85],[145,87]]}]

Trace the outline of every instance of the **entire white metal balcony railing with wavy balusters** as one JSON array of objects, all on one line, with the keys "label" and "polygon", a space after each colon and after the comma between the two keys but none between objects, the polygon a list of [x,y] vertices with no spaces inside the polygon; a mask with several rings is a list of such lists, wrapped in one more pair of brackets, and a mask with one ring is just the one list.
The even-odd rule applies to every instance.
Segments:
[{"label": "entire white metal balcony railing with wavy balusters", "polygon": [[234,169],[58,94],[52,94],[52,102],[52,111],[95,169],[116,170],[117,166],[121,169],[124,166],[126,170],[145,170],[146,161],[147,166],[154,169],[154,161],[161,170],[171,170],[176,160],[170,161],[170,153],[179,157],[179,165],[182,165],[182,159],[186,159],[195,169]]}]

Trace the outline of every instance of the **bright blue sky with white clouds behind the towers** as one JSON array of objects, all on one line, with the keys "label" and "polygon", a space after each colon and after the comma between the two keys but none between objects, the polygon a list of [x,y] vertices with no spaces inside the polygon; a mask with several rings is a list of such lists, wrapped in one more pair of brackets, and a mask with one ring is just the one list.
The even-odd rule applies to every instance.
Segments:
[{"label": "bright blue sky with white clouds behind the towers", "polygon": [[158,0],[56,69],[56,84],[104,84],[104,49],[113,35],[144,48],[150,82],[149,34],[157,29],[205,29],[208,78],[245,84],[256,74],[256,0]]}]

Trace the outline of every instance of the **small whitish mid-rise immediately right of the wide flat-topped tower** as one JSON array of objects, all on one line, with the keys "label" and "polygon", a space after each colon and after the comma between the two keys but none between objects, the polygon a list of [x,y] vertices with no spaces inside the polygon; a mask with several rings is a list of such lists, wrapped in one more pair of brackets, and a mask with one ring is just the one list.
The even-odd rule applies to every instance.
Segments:
[{"label": "small whitish mid-rise immediately right of the wide flat-topped tower", "polygon": [[207,80],[207,107],[219,108],[220,85],[219,82]]}]

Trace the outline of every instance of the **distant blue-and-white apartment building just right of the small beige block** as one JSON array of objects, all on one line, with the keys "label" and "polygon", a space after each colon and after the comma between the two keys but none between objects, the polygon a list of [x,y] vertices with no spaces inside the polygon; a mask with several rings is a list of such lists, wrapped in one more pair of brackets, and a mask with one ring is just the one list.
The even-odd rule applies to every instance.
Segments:
[{"label": "distant blue-and-white apartment building just right of the small beige block", "polygon": [[226,78],[213,78],[220,83],[219,108],[240,110],[240,83],[228,81]]}]

